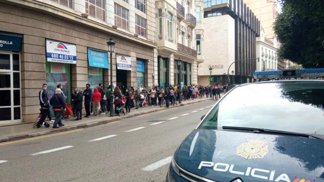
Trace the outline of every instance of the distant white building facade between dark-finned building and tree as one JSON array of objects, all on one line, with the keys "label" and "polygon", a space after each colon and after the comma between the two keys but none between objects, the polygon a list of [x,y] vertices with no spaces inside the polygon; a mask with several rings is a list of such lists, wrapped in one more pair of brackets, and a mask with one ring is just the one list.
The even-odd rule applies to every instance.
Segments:
[{"label": "distant white building facade between dark-finned building and tree", "polygon": [[263,28],[260,31],[260,37],[257,37],[257,71],[277,70],[278,43],[274,39],[267,39]]}]

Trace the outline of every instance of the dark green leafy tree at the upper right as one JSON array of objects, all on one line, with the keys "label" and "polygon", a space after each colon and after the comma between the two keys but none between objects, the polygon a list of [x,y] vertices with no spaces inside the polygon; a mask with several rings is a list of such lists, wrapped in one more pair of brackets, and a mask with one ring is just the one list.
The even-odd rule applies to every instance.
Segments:
[{"label": "dark green leafy tree at the upper right", "polygon": [[324,68],[324,1],[281,0],[273,30],[281,46],[278,57],[304,68]]}]

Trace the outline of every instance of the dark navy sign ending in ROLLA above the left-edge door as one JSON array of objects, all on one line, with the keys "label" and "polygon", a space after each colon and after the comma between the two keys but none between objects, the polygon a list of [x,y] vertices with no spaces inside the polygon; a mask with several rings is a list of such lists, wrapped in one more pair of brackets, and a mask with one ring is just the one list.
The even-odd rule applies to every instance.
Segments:
[{"label": "dark navy sign ending in ROLLA above the left-edge door", "polygon": [[21,51],[21,37],[0,35],[0,50]]}]

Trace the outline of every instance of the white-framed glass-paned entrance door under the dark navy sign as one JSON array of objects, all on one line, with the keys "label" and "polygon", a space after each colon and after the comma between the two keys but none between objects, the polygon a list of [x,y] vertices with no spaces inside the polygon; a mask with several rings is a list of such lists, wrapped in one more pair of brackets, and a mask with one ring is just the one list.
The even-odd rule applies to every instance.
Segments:
[{"label": "white-framed glass-paned entrance door under the dark navy sign", "polygon": [[19,53],[0,51],[0,123],[21,121]]}]

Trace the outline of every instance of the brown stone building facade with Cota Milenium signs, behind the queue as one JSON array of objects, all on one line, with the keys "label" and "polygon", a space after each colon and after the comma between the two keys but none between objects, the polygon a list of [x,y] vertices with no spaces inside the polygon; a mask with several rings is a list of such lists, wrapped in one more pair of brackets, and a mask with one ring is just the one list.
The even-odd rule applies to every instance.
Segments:
[{"label": "brown stone building facade with Cota Milenium signs, behind the queue", "polygon": [[[151,0],[8,0],[0,3],[0,124],[34,122],[38,92],[153,85],[155,2]],[[107,54],[107,41],[116,42]],[[109,66],[108,66],[109,65]],[[109,81],[109,83],[108,83]]]}]

